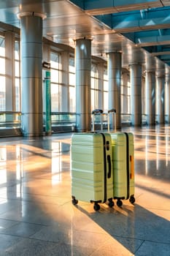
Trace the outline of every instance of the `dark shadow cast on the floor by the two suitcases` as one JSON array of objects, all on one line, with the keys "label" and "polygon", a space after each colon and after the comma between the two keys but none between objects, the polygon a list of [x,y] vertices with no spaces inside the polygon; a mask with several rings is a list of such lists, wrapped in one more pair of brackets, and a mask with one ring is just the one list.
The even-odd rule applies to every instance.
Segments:
[{"label": "dark shadow cast on the floor by the two suitcases", "polygon": [[[135,255],[170,255],[170,222],[153,214],[152,211],[138,204],[123,204],[121,208],[106,208],[101,204],[100,211],[93,213],[86,211],[85,207],[76,207],[129,252]],[[146,252],[148,244],[149,251]]]}]

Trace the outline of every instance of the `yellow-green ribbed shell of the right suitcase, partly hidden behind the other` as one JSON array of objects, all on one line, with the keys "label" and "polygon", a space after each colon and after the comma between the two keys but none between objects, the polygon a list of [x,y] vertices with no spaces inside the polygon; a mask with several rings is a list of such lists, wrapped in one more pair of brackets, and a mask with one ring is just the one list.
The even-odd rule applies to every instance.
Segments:
[{"label": "yellow-green ribbed shell of the right suitcase, partly hidden behind the other", "polygon": [[110,135],[114,198],[128,199],[134,196],[134,135],[131,132],[113,132]]}]

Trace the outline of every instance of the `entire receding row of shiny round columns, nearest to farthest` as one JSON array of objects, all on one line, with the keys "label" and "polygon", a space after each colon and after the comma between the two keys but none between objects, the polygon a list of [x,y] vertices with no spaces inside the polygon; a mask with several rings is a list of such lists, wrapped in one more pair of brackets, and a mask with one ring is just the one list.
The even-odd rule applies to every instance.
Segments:
[{"label": "entire receding row of shiny round columns, nearest to farthest", "polygon": [[[42,129],[42,19],[34,12],[20,14],[21,23],[21,81],[22,81],[22,130],[26,136],[41,136]],[[90,70],[91,39],[77,39],[76,66],[76,113],[77,131],[90,131]],[[121,127],[122,54],[108,53],[109,109],[116,109],[117,129]],[[131,124],[142,124],[142,65],[131,64]],[[169,86],[167,86],[167,91]],[[157,76],[158,122],[164,121],[164,80]],[[168,94],[169,95],[169,94]],[[168,99],[168,98],[167,98]],[[166,101],[169,104],[169,101]],[[170,104],[169,104],[170,105]],[[170,108],[170,107],[169,107]],[[155,75],[146,72],[147,124],[155,124]],[[170,114],[170,110],[169,110]]]}]

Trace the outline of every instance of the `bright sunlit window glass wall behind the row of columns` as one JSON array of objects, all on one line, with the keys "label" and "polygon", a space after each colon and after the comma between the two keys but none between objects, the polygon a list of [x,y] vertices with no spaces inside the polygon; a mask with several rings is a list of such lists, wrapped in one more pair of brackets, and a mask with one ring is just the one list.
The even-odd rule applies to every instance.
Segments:
[{"label": "bright sunlit window glass wall behind the row of columns", "polygon": [[[3,34],[0,36],[0,111],[6,111],[6,76],[5,70],[5,37]],[[15,70],[12,88],[14,100],[13,111],[20,112],[20,40],[15,39],[13,49],[14,60],[12,61],[13,70]],[[51,75],[51,111],[56,112],[76,112],[76,75],[75,75],[75,63],[74,53],[60,51],[58,45],[56,48],[53,45],[48,45],[48,58],[50,61],[50,75]],[[6,64],[7,66],[7,64]],[[91,92],[91,110],[96,108],[102,108],[104,112],[108,110],[108,74],[107,74],[107,61],[104,63],[102,59],[96,61],[92,57],[91,64],[91,80],[90,80],[90,92]],[[62,100],[62,98],[64,100]],[[131,84],[129,81],[128,70],[123,74],[121,84],[121,111],[123,114],[130,114],[131,102]],[[66,106],[65,106],[66,103]],[[65,108],[66,107],[66,108]]]}]

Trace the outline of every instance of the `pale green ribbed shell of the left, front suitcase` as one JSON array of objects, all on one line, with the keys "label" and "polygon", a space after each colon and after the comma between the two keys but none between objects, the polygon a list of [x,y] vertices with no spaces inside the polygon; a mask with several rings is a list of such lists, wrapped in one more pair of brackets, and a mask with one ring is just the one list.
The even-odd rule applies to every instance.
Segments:
[{"label": "pale green ribbed shell of the left, front suitcase", "polygon": [[[104,140],[107,144],[106,154],[104,153]],[[108,156],[111,159],[111,166],[107,161]],[[106,157],[105,160],[104,157]],[[107,167],[106,170],[104,170],[104,165]],[[110,173],[109,167],[111,168]],[[72,135],[71,170],[72,196],[76,199],[104,203],[107,199],[112,198],[111,136],[106,133],[78,133]]]}]

